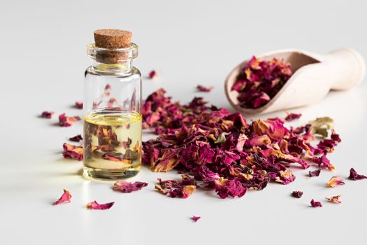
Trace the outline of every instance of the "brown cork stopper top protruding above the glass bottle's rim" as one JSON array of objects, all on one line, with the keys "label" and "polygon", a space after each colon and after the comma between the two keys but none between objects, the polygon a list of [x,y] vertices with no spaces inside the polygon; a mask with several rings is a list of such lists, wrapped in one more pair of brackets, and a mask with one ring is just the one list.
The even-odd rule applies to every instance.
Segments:
[{"label": "brown cork stopper top protruding above the glass bottle's rim", "polygon": [[99,29],[94,31],[94,42],[98,48],[129,48],[131,31]]}]

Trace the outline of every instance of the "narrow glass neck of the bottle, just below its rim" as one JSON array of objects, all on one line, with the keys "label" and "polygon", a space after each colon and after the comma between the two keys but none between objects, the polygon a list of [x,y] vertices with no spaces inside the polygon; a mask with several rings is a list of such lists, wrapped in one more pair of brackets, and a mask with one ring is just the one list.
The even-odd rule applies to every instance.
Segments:
[{"label": "narrow glass neck of the bottle, just below its rim", "polygon": [[104,64],[94,60],[92,68],[99,75],[124,76],[129,75],[133,69],[132,59],[115,64]]}]

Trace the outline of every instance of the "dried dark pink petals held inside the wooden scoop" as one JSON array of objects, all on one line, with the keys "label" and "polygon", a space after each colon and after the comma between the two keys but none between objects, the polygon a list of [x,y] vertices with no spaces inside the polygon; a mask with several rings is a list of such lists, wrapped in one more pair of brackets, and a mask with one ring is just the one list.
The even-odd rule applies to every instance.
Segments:
[{"label": "dried dark pink petals held inside the wooden scoop", "polygon": [[238,92],[240,106],[256,109],[268,103],[291,76],[290,65],[282,59],[266,61],[253,56],[243,67],[231,90]]}]

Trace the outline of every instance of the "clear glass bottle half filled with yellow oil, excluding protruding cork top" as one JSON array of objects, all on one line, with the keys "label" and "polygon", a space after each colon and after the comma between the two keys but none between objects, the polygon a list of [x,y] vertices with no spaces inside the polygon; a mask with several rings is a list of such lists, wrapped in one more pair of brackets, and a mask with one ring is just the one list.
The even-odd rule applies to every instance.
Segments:
[{"label": "clear glass bottle half filled with yellow oil, excluding protruding cork top", "polygon": [[132,66],[138,46],[87,46],[94,60],[85,71],[83,175],[114,180],[141,169],[141,73]]}]

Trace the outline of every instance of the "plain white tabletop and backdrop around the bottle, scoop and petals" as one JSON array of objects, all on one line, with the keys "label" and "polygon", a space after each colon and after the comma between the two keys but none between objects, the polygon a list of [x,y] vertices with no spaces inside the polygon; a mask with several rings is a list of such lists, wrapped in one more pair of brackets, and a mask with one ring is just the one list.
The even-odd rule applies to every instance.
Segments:
[{"label": "plain white tabletop and backdrop around the bottle, scoop and petals", "polygon": [[[134,2],[134,5],[133,5]],[[289,186],[271,184],[241,199],[220,200],[198,191],[187,200],[159,195],[157,177],[175,172],[143,168],[134,180],[149,186],[131,194],[115,193],[112,183],[86,181],[81,162],[61,155],[66,137],[81,123],[57,127],[37,118],[44,110],[78,114],[82,79],[90,59],[85,45],[99,28],[134,31],[140,47],[136,66],[143,74],[161,71],[161,79],[144,81],[145,96],[164,87],[187,102],[203,95],[229,107],[224,78],[252,54],[278,48],[327,52],[351,46],[366,57],[364,1],[1,1],[1,179],[0,244],[362,244],[366,240],[367,180],[325,188],[334,174],[346,178],[350,167],[367,174],[367,86],[333,92],[324,101],[294,111],[305,123],[331,116],[343,142],[331,155],[336,172],[307,179],[296,171]],[[209,94],[197,84],[214,85]],[[284,117],[285,113],[268,116]],[[266,118],[268,116],[261,116]],[[145,136],[147,139],[148,136]],[[52,207],[66,188],[71,204]],[[300,200],[289,197],[303,190]],[[342,195],[342,204],[324,197]],[[324,202],[310,207],[311,198]],[[113,202],[108,211],[89,211],[90,201]],[[201,216],[193,223],[189,217]]]}]

